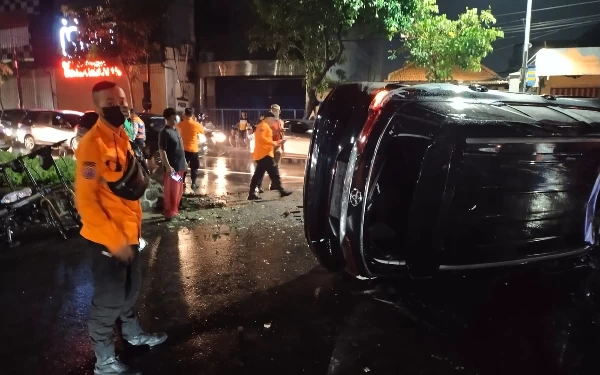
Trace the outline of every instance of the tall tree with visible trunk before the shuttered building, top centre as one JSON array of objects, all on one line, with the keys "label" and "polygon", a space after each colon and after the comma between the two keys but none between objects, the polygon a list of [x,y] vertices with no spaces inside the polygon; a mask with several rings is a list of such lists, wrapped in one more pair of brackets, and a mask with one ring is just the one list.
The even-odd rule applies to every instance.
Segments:
[{"label": "tall tree with visible trunk before the shuttered building, top centre", "polygon": [[[250,33],[250,51],[266,48],[285,63],[304,66],[308,118],[318,105],[317,93],[331,83],[327,73],[344,61],[349,31],[394,35],[410,23],[418,1],[253,0],[259,24]],[[344,78],[343,70],[336,73]]]}]

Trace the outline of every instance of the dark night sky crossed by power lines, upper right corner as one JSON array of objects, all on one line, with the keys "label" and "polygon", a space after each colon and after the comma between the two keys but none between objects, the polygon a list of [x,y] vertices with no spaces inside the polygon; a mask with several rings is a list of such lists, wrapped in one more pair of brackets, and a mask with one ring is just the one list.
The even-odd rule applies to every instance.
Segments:
[{"label": "dark night sky crossed by power lines, upper right corner", "polygon": [[[531,37],[540,37],[537,40],[570,40],[579,37],[585,31],[589,30],[592,26],[598,25],[588,23],[587,25],[581,25],[585,22],[596,20],[600,21],[600,2],[587,5],[574,5],[576,3],[586,3],[591,0],[533,0],[533,10],[531,24],[532,28],[535,27],[536,23],[561,20],[560,24],[538,24],[538,28],[544,28],[537,32],[532,32]],[[520,25],[524,25],[525,10],[527,8],[526,0],[438,0],[441,13],[446,13],[450,18],[456,18],[458,13],[469,8],[486,9],[488,6],[492,7],[492,14],[496,15],[498,20],[497,26],[502,28],[510,27],[510,30],[514,30]],[[549,8],[561,5],[571,5],[569,7],[535,11],[540,8]],[[500,16],[505,13],[519,14]],[[592,16],[597,16],[593,18]],[[573,20],[576,17],[588,17],[579,18]],[[521,21],[523,19],[523,21]],[[507,29],[508,30],[508,29]],[[547,34],[546,36],[544,36]],[[512,46],[516,43],[522,43],[524,38],[524,31],[514,30],[505,35],[504,39],[500,39],[494,43],[494,52],[489,55],[483,64],[490,67],[491,69],[502,72],[507,69],[508,59],[510,58],[513,48]],[[599,45],[600,45],[600,37]]]}]

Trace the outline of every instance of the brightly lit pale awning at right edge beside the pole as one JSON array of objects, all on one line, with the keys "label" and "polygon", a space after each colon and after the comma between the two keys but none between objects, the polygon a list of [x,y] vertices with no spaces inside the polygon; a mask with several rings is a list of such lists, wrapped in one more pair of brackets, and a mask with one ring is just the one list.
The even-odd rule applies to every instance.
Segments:
[{"label": "brightly lit pale awning at right edge beside the pole", "polygon": [[542,48],[536,56],[536,75],[600,75],[600,47]]}]

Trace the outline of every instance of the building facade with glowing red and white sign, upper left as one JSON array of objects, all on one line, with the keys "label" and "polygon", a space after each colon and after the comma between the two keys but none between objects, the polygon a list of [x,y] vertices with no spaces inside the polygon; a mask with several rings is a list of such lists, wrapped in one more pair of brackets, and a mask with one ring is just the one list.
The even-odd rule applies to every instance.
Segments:
[{"label": "building facade with glowing red and white sign, upper left", "polygon": [[63,57],[78,29],[76,20],[62,18],[59,4],[44,8],[39,0],[2,1],[0,57],[15,73],[0,86],[4,108],[89,110],[91,89],[100,80],[117,82],[125,90],[129,105],[138,111],[142,111],[148,94],[151,112],[162,113],[166,107],[183,110],[193,104],[192,0],[170,3],[165,15],[162,53],[150,64],[132,67],[131,82],[123,67],[94,61],[75,68]]}]

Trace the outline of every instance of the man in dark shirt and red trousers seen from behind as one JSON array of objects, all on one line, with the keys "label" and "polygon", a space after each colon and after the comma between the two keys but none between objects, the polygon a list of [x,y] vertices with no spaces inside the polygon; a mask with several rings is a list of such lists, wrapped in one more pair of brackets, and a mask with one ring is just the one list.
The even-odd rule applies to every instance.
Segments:
[{"label": "man in dark shirt and red trousers seen from behind", "polygon": [[175,108],[167,108],[163,112],[163,117],[167,121],[167,126],[161,130],[158,136],[158,147],[163,167],[165,169],[163,215],[165,219],[171,220],[179,214],[179,203],[183,196],[183,180],[187,163],[185,161],[185,152],[183,150],[183,140],[181,135],[175,129],[179,122],[179,116]]}]

